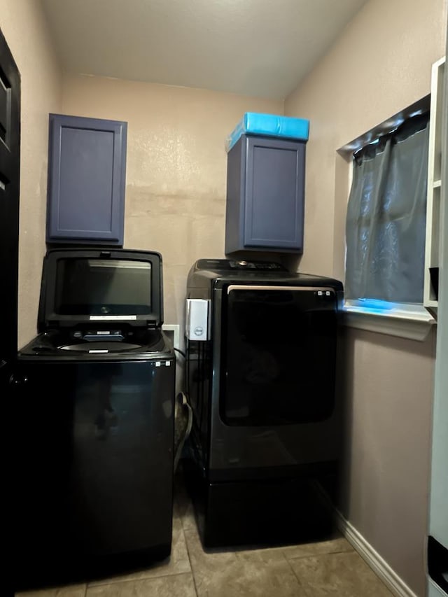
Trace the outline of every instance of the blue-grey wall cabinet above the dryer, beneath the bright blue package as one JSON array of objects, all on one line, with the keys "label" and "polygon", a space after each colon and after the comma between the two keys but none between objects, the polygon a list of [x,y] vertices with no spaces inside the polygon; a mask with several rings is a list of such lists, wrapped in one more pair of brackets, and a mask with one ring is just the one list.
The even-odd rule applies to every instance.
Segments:
[{"label": "blue-grey wall cabinet above the dryer, beneath the bright blue package", "polygon": [[302,253],[305,141],[241,135],[228,153],[225,253]]}]

